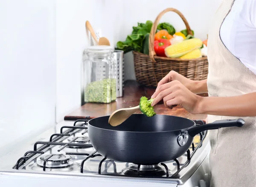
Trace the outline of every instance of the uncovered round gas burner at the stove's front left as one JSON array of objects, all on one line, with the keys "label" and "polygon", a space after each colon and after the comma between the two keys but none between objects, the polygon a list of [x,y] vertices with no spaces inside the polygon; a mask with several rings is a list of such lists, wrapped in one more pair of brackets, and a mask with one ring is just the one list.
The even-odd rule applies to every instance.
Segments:
[{"label": "uncovered round gas burner at the stove's front left", "polygon": [[[44,166],[44,160],[47,159],[49,155],[43,155],[37,161],[37,164],[41,167]],[[45,167],[47,168],[61,168],[61,167],[68,167],[73,164],[73,161],[70,160],[71,156],[64,155],[64,154],[53,154],[51,158],[49,158],[46,162]]]}]

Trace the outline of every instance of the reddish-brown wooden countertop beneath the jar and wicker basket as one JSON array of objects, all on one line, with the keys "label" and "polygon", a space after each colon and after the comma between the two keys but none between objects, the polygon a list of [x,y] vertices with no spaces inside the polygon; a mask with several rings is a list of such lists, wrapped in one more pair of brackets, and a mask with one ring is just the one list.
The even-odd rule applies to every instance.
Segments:
[{"label": "reddish-brown wooden countertop beneath the jar and wicker basket", "polygon": [[[119,108],[130,108],[139,105],[140,97],[146,96],[150,98],[151,95],[154,93],[154,90],[155,89],[140,86],[136,81],[126,81],[123,97],[119,97],[116,99],[115,102],[108,104],[86,103],[85,105],[81,106],[80,108],[65,116],[64,120],[85,119],[87,116],[90,116],[90,118],[108,116],[111,115],[113,111]],[[207,94],[204,94],[202,96],[207,96]],[[170,110],[166,108],[164,105],[157,105],[154,107],[154,111],[157,114],[180,116],[193,120],[201,119],[206,121],[207,119],[207,115],[194,115],[187,112],[183,108],[180,108],[179,106]],[[141,112],[140,110],[138,110],[136,113]]]}]

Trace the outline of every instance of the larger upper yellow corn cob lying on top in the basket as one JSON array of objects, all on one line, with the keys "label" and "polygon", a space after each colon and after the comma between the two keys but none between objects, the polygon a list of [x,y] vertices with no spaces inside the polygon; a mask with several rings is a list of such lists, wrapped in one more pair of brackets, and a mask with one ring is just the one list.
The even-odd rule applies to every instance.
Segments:
[{"label": "larger upper yellow corn cob lying on top in the basket", "polygon": [[192,38],[184,40],[180,43],[176,43],[165,48],[166,57],[177,58],[181,57],[203,45],[202,40],[198,38]]}]

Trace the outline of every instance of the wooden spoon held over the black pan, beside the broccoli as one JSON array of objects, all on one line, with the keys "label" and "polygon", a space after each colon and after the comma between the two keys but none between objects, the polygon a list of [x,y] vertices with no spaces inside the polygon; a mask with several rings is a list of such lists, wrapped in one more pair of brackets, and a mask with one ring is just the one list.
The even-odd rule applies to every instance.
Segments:
[{"label": "wooden spoon held over the black pan, beside the broccoli", "polygon": [[108,123],[113,127],[120,125],[138,109],[140,109],[140,105],[132,108],[121,108],[119,110],[116,110],[109,117]]}]

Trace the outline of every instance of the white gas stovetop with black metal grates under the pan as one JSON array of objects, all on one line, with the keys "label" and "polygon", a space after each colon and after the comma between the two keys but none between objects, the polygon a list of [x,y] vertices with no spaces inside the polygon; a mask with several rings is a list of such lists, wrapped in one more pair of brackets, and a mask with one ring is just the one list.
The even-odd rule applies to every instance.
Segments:
[{"label": "white gas stovetop with black metal grates under the pan", "polygon": [[[138,165],[102,157],[90,144],[88,120],[63,122],[48,130],[36,142],[0,158],[0,172],[40,173],[104,178],[147,178],[183,183],[199,167],[209,152],[207,131],[194,138],[189,150],[173,161]],[[196,121],[202,125],[203,121]],[[38,141],[39,140],[39,141]],[[16,164],[15,164],[16,163]]]}]

